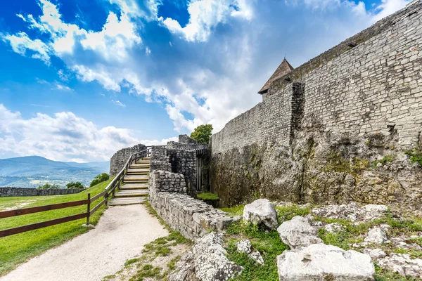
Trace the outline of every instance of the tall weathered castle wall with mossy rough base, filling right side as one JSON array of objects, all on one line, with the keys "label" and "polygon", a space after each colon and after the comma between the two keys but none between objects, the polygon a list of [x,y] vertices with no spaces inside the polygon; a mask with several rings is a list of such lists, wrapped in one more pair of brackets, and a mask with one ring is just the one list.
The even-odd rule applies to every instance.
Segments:
[{"label": "tall weathered castle wall with mossy rough base, filling right side", "polygon": [[362,41],[345,41],[354,48],[343,42],[324,53],[329,61],[319,56],[324,64],[298,67],[291,81],[274,81],[262,103],[213,135],[220,203],[268,197],[420,208],[422,169],[405,152],[422,131],[422,11],[403,17],[420,6],[361,32]]}]

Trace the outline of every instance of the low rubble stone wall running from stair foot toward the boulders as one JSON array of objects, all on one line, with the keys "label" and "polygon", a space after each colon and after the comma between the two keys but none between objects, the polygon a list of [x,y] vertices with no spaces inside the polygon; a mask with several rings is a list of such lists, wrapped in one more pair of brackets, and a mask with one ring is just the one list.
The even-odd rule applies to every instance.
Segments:
[{"label": "low rubble stone wall running from stair foot toward the boulders", "polygon": [[223,230],[233,221],[224,211],[186,195],[182,174],[152,171],[149,200],[153,209],[172,229],[190,240],[203,237],[211,230]]}]

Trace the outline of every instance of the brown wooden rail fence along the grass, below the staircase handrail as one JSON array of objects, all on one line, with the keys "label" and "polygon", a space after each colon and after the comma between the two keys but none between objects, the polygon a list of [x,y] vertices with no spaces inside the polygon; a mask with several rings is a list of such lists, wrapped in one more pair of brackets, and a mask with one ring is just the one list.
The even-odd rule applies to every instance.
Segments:
[{"label": "brown wooden rail fence along the grass, below the staircase handrail", "polygon": [[[102,196],[104,196],[105,199],[101,201],[99,204],[97,204],[96,207],[91,209],[91,203],[96,201],[98,198]],[[104,190],[103,192],[95,195],[92,198],[91,198],[91,193],[89,193],[88,198],[86,200],[64,202],[64,203],[25,208],[25,209],[16,209],[16,210],[11,210],[11,211],[0,211],[0,218],[10,218],[11,216],[22,216],[26,214],[39,213],[41,211],[51,211],[51,210],[87,205],[87,212],[84,212],[82,214],[65,216],[63,218],[55,218],[51,221],[43,221],[41,223],[32,223],[27,226],[19,226],[17,228],[9,228],[6,230],[0,230],[0,237],[6,237],[9,235],[15,235],[18,233],[25,233],[27,231],[35,230],[38,228],[46,228],[47,226],[55,226],[56,224],[67,223],[68,221],[75,221],[81,218],[87,218],[87,225],[89,225],[89,217],[92,216],[92,214],[94,214],[95,211],[97,211],[101,206],[103,206],[103,204],[107,205],[107,202],[108,202],[108,192],[107,190]]]}]

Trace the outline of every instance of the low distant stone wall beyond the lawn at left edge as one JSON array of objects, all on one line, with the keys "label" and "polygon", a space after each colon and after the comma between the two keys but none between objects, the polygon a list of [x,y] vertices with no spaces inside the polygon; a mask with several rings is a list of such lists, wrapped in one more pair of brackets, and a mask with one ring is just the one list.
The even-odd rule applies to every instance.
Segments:
[{"label": "low distant stone wall beyond the lawn at left edge", "polygon": [[18,197],[18,196],[48,196],[48,195],[67,195],[75,194],[84,189],[67,189],[67,188],[0,188],[0,197]]}]

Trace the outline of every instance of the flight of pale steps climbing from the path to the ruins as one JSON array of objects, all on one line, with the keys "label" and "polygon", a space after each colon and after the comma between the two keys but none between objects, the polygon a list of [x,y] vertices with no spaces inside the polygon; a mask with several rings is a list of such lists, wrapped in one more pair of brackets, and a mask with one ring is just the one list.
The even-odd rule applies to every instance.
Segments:
[{"label": "flight of pale steps climbing from the path to the ruins", "polygon": [[110,206],[140,204],[148,196],[150,158],[144,157],[129,166],[123,185],[116,190]]}]

